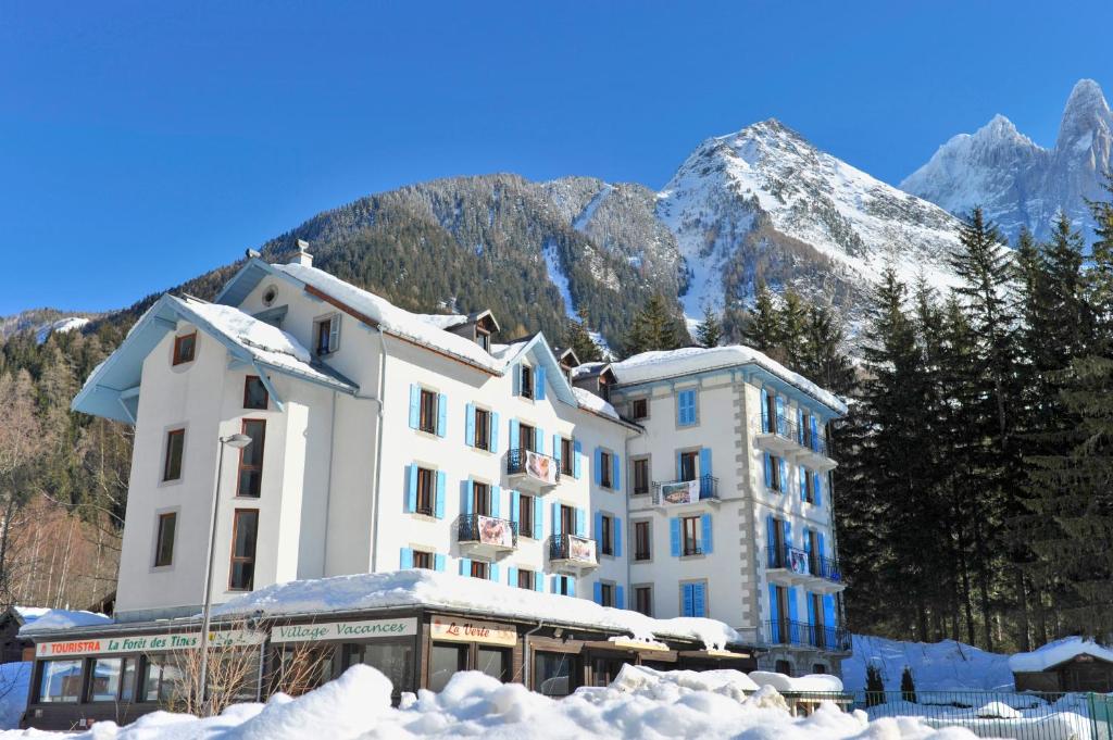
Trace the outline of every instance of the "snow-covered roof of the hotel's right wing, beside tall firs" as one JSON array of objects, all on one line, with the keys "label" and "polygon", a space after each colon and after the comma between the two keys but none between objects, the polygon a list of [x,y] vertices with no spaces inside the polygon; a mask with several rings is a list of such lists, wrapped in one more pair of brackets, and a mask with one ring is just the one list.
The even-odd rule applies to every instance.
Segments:
[{"label": "snow-covered roof of the hotel's right wing, beside tall firs", "polygon": [[740,344],[723,347],[683,347],[664,352],[643,352],[614,363],[611,368],[619,383],[632,385],[663,378],[690,375],[739,365],[757,365],[785,383],[802,391],[838,414],[846,413],[846,403],[799,373],[794,373],[769,356]]}]

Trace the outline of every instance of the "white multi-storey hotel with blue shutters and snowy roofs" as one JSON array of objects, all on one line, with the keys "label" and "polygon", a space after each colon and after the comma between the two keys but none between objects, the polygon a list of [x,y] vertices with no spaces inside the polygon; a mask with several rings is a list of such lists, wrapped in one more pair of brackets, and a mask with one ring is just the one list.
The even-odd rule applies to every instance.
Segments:
[{"label": "white multi-storey hotel with blue shutters and snowy roofs", "polygon": [[304,245],[211,304],[162,296],[73,401],[135,425],[117,626],[200,610],[219,490],[217,603],[426,568],[713,618],[762,668],[838,671],[841,401],[740,346],[583,366],[498,333],[402,310]]}]

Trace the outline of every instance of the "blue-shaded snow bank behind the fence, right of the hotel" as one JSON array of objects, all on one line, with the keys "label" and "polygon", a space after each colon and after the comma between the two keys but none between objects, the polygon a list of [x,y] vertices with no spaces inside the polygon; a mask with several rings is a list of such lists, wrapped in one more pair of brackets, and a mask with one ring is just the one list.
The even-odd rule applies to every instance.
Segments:
[{"label": "blue-shaded snow bank behind the fence, right of the hotel", "polygon": [[854,653],[843,661],[843,681],[848,691],[865,691],[866,667],[877,665],[888,691],[900,690],[905,667],[918,691],[1012,691],[1008,658],[954,640],[902,642],[869,635],[853,635]]}]

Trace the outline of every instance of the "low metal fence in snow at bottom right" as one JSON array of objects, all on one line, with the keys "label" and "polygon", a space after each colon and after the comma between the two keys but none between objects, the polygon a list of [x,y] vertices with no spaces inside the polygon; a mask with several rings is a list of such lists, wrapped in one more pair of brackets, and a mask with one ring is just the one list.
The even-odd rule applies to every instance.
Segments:
[{"label": "low metal fence in snow at bottom right", "polygon": [[1113,740],[1113,694],[1008,691],[859,691],[869,719],[916,717],[982,738]]}]

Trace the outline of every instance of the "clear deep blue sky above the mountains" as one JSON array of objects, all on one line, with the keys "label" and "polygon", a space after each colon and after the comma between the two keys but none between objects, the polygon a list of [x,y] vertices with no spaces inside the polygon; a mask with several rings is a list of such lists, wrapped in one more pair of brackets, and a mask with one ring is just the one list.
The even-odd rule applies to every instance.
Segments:
[{"label": "clear deep blue sky above the mountains", "polygon": [[1111,3],[1066,4],[0,0],[0,315],[418,180],[660,187],[769,117],[890,182],[996,112],[1047,145],[1078,78],[1113,88]]}]

